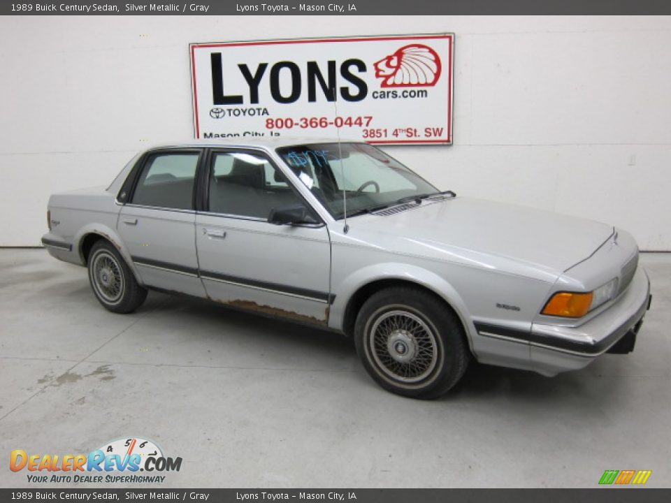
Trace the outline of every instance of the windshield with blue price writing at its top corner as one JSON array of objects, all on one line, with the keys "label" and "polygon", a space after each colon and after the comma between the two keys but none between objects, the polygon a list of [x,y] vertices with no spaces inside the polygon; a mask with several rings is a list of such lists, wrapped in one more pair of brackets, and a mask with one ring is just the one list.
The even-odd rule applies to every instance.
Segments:
[{"label": "windshield with blue price writing at its top corner", "polygon": [[[313,143],[277,149],[282,159],[335,219],[381,209],[438,189],[367,143]],[[342,167],[341,167],[342,164]]]}]

